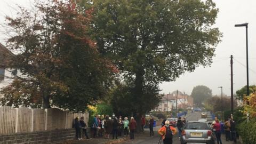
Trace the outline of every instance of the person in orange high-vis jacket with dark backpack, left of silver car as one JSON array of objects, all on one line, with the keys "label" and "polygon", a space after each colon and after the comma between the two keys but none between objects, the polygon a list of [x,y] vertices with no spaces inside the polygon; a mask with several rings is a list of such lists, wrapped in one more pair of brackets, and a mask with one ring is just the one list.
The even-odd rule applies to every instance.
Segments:
[{"label": "person in orange high-vis jacket with dark backpack, left of silver car", "polygon": [[158,130],[158,134],[161,135],[164,144],[172,144],[172,137],[168,136],[167,138],[166,129],[170,129],[172,131],[172,135],[176,134],[177,130],[170,125],[169,121],[165,121],[165,126]]}]

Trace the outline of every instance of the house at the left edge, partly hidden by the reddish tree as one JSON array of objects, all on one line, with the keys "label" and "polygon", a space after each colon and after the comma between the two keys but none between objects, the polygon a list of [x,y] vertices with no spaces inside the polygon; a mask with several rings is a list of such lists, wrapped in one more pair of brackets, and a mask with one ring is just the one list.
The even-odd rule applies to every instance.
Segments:
[{"label": "house at the left edge, partly hidden by the reddish tree", "polygon": [[0,43],[0,89],[11,83],[11,76],[17,74],[17,70],[10,66],[15,55]]}]

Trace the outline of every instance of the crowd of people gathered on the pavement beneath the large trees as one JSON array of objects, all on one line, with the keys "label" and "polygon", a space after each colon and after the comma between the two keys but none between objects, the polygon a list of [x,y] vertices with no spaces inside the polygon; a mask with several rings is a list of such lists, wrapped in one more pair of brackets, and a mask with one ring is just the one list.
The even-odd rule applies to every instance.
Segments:
[{"label": "crowd of people gathered on the pavement beneath the large trees", "polygon": [[[145,126],[145,118],[141,117],[141,128]],[[134,139],[134,132],[137,129],[137,122],[134,117],[130,118],[119,116],[119,118],[112,117],[106,115],[95,115],[93,117],[93,122],[91,126],[85,123],[84,117],[79,118],[78,116],[74,119],[74,128],[76,130],[76,138],[77,140],[83,140],[81,137],[81,133],[84,133],[86,139],[89,139],[87,134],[87,130],[90,129],[91,138],[104,137],[105,139],[110,139],[110,135],[112,135],[112,139],[117,139],[118,137],[129,137],[130,139]],[[152,128],[153,130],[153,128]],[[154,135],[154,132],[153,132]]]}]

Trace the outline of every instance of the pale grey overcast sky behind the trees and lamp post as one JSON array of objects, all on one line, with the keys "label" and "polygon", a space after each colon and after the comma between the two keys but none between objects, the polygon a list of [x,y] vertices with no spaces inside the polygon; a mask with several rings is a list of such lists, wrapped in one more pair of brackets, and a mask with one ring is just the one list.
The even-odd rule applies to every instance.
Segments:
[{"label": "pale grey overcast sky behind the trees and lamp post", "polygon": [[[193,73],[185,73],[175,82],[160,84],[163,93],[175,90],[191,94],[196,85],[206,85],[213,94],[220,94],[218,86],[223,86],[223,93],[230,95],[230,55],[234,57],[234,93],[246,85],[246,45],[245,28],[234,27],[238,23],[249,23],[249,84],[256,83],[256,1],[255,0],[213,0],[219,8],[214,27],[223,33],[222,42],[215,51],[211,67],[199,67]],[[33,1],[32,1],[33,2]],[[0,23],[4,16],[14,16],[15,3],[29,7],[30,0],[1,0]],[[3,31],[1,31],[3,32]],[[4,44],[4,34],[0,33],[0,42]],[[254,40],[255,39],[255,40]]]}]

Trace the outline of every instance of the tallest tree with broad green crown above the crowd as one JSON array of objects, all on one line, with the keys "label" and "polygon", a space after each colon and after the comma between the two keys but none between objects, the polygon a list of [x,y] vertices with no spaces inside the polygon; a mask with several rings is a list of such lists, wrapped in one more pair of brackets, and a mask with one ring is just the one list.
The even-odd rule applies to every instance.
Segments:
[{"label": "tallest tree with broad green crown above the crowd", "polygon": [[212,28],[218,9],[211,0],[82,0],[81,5],[94,9],[91,35],[130,87],[135,117],[155,107],[145,100],[157,99],[159,83],[209,66],[220,41],[218,28]]}]

